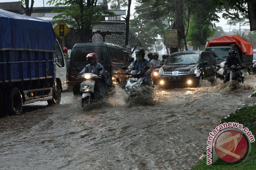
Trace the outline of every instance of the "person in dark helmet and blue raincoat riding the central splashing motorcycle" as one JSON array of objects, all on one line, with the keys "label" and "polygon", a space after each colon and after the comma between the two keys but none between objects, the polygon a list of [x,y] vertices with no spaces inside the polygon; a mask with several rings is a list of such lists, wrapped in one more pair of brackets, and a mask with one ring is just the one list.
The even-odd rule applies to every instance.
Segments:
[{"label": "person in dark helmet and blue raincoat riding the central splashing motorcycle", "polygon": [[131,62],[131,64],[128,66],[127,73],[131,72],[132,70],[139,70],[139,71],[145,71],[143,70],[145,66],[148,66],[148,70],[145,71],[145,76],[143,77],[143,84],[150,86],[151,85],[151,72],[152,72],[152,65],[147,60],[144,59],[145,57],[145,51],[144,49],[138,49],[135,51],[136,54],[136,60]]}]

